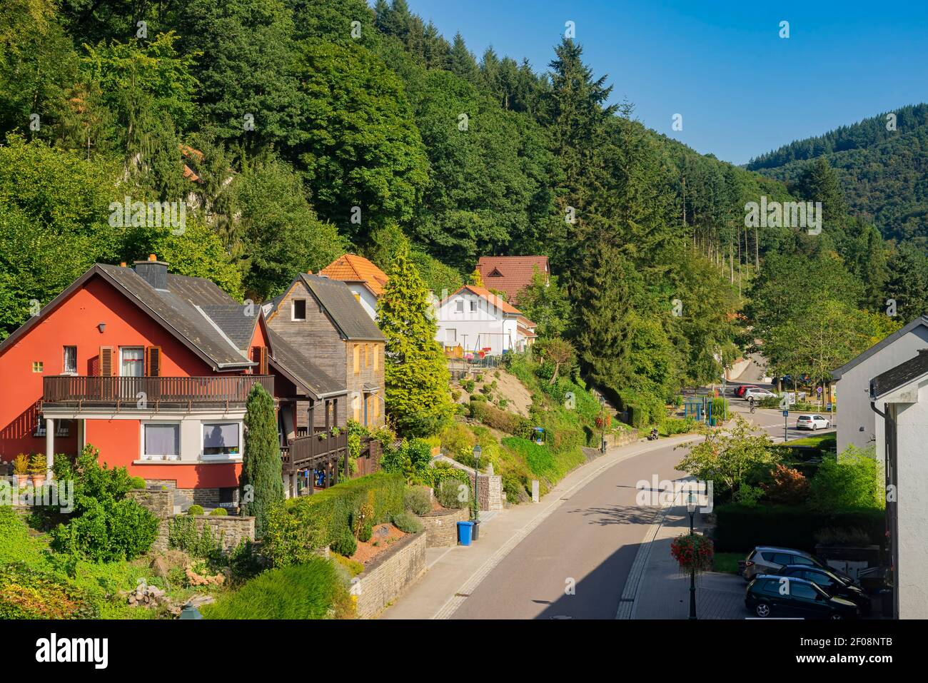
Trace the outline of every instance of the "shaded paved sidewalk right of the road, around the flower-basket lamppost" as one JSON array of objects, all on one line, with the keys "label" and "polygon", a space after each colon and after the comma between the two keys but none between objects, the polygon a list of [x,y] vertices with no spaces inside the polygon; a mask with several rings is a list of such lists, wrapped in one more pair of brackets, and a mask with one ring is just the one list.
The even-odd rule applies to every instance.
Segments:
[{"label": "shaded paved sidewalk right of the road, around the flower-basket lamppost", "polygon": [[[694,526],[700,529],[700,513]],[[625,583],[616,619],[687,619],[690,616],[690,574],[680,571],[670,555],[670,543],[689,533],[690,513],[685,505],[667,508],[651,527],[646,542]],[[651,539],[648,543],[647,540]],[[730,573],[696,575],[698,619],[743,619],[744,579]]]}]

